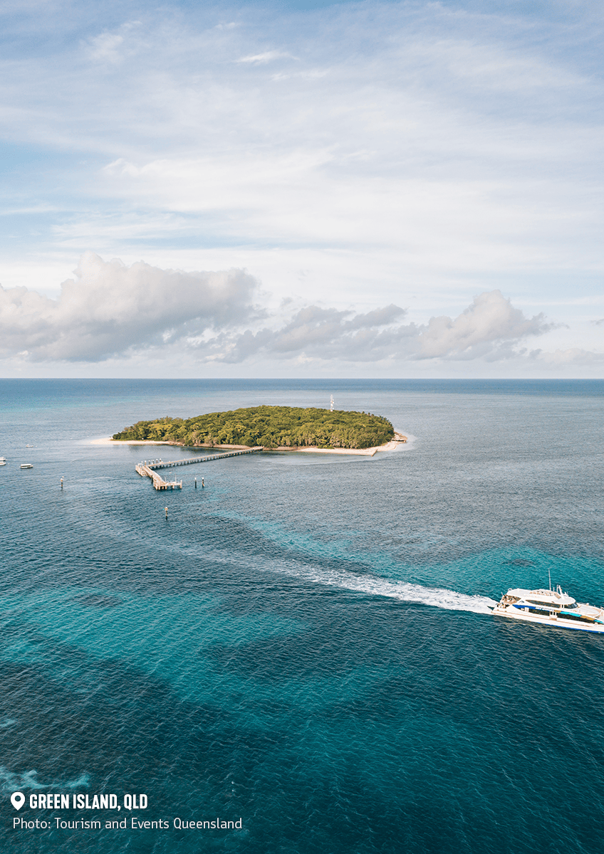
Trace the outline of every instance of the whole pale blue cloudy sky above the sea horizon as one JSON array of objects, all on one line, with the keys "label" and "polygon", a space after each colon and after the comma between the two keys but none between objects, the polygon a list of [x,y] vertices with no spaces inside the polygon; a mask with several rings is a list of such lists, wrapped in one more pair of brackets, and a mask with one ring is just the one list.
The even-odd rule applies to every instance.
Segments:
[{"label": "whole pale blue cloudy sky above the sea horizon", "polygon": [[0,376],[604,376],[601,3],[0,15]]}]

